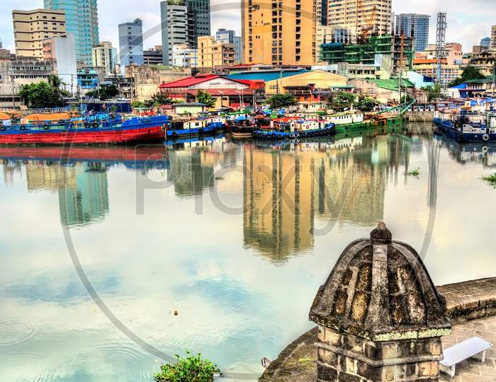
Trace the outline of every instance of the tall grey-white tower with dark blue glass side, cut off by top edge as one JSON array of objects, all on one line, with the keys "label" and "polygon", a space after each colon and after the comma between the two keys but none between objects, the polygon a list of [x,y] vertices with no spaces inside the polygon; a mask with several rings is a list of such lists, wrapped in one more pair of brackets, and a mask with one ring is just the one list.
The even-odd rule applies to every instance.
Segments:
[{"label": "tall grey-white tower with dark blue glass side, cut off by top edge", "polygon": [[172,63],[172,47],[210,36],[210,0],[164,0],[160,3],[164,64]]}]

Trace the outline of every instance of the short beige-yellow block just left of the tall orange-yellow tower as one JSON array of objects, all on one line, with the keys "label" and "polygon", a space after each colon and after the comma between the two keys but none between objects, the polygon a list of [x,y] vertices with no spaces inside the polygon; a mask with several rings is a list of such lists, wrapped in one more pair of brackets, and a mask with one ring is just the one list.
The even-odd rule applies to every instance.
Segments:
[{"label": "short beige-yellow block just left of the tall orange-yellow tower", "polygon": [[216,41],[212,36],[198,37],[198,68],[232,66],[235,55],[233,44]]}]

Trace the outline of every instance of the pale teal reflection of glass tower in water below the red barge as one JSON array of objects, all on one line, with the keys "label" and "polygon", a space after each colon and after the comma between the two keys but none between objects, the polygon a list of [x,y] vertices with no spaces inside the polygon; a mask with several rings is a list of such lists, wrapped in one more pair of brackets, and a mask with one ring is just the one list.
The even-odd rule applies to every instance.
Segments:
[{"label": "pale teal reflection of glass tower in water below the red barge", "polygon": [[76,169],[75,187],[60,187],[60,221],[64,226],[79,226],[101,219],[108,212],[106,166],[86,163]]}]

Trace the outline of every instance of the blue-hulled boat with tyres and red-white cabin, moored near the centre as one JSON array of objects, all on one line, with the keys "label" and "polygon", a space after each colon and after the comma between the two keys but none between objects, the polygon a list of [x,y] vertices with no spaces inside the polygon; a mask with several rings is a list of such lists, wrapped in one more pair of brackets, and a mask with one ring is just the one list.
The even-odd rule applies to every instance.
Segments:
[{"label": "blue-hulled boat with tyres and red-white cabin, moored near the centre", "polygon": [[272,120],[269,129],[255,130],[253,137],[259,139],[296,139],[300,137],[327,137],[335,133],[335,125],[332,122],[285,117]]}]

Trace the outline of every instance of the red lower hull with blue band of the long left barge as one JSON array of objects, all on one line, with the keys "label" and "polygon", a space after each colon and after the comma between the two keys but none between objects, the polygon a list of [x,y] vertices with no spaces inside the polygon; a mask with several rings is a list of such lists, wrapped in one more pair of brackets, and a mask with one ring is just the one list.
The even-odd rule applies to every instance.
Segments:
[{"label": "red lower hull with blue band of the long left barge", "polygon": [[133,144],[164,141],[162,125],[0,132],[0,144]]}]

